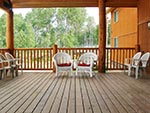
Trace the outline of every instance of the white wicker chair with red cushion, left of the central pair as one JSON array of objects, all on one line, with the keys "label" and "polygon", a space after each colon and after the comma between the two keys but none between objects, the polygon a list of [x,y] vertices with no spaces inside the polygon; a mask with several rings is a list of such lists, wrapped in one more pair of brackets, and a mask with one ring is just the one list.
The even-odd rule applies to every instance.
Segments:
[{"label": "white wicker chair with red cushion, left of the central pair", "polygon": [[69,54],[58,52],[53,56],[52,60],[56,68],[56,76],[63,71],[69,72],[70,76],[72,75],[73,60]]}]

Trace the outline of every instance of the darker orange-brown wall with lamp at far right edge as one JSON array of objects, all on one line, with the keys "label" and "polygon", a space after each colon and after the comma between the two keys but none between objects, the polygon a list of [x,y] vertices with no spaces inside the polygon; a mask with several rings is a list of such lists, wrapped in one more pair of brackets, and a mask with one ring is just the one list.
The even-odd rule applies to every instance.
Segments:
[{"label": "darker orange-brown wall with lamp at far right edge", "polygon": [[147,22],[150,21],[150,0],[139,0],[138,9],[140,49],[150,52],[150,30],[147,27]]}]

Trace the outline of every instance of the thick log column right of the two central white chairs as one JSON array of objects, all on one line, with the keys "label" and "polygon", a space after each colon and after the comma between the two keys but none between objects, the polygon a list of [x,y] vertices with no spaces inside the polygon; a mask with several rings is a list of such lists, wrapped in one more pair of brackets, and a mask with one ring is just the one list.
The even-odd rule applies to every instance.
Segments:
[{"label": "thick log column right of the two central white chairs", "polygon": [[105,50],[106,50],[106,9],[105,0],[98,0],[99,6],[99,72],[105,73]]}]

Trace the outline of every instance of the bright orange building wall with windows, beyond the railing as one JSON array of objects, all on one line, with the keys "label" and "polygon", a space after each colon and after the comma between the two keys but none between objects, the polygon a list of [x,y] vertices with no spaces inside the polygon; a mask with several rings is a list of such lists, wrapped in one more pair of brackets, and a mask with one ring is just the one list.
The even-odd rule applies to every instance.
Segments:
[{"label": "bright orange building wall with windows, beyond the railing", "polygon": [[[114,11],[118,22],[114,22]],[[111,12],[111,47],[118,37],[118,47],[135,47],[137,44],[137,8],[116,8]]]}]

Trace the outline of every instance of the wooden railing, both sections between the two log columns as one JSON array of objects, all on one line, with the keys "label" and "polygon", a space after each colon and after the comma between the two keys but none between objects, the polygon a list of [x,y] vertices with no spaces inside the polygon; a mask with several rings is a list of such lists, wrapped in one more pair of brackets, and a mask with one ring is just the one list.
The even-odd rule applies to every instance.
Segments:
[{"label": "wooden railing, both sections between the two log columns", "polygon": [[[86,52],[95,52],[97,54],[98,48],[57,48],[57,51],[66,52],[75,60]],[[53,48],[21,48],[14,50],[14,56],[22,59],[24,70],[52,70],[52,57],[54,54]]]}]

